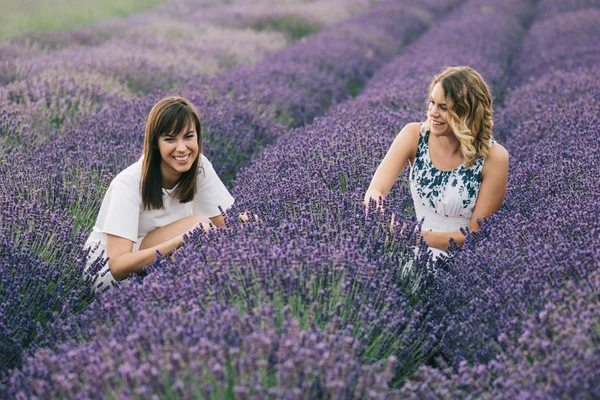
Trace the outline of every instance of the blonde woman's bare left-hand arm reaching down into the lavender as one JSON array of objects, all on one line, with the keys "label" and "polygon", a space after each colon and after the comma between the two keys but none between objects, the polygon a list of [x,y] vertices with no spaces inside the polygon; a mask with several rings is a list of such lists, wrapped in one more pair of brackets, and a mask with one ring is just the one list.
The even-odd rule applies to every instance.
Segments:
[{"label": "blonde woman's bare left-hand arm reaching down into the lavender", "polygon": [[419,124],[413,122],[402,128],[375,171],[365,193],[365,205],[369,204],[370,199],[378,201],[380,197],[388,195],[406,163],[414,160],[418,144]]}]

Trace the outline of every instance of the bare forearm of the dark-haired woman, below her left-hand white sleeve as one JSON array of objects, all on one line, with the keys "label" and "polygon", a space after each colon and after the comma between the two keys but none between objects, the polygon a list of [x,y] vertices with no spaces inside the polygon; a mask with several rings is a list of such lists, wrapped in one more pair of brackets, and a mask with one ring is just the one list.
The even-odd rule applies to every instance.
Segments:
[{"label": "bare forearm of the dark-haired woman, below her left-hand white sleeve", "polygon": [[122,254],[114,260],[109,258],[110,272],[117,281],[127,278],[129,274],[141,273],[144,267],[156,260],[156,251],[162,254],[171,254],[182,242],[182,237],[175,237],[144,250]]}]

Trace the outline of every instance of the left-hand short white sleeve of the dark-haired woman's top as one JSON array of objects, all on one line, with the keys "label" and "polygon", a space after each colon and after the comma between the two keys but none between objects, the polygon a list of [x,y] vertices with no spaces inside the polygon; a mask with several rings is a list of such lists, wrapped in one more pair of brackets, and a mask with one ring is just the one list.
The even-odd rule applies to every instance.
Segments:
[{"label": "left-hand short white sleeve of the dark-haired woman's top", "polygon": [[139,182],[115,179],[107,191],[105,202],[102,232],[136,242],[141,208]]}]

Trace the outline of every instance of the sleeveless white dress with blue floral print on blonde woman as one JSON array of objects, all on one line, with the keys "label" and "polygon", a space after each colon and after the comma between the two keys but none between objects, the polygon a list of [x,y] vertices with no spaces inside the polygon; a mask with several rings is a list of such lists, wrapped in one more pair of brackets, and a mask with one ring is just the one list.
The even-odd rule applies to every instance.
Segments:
[{"label": "sleeveless white dress with blue floral print on blonde woman", "polygon": [[[492,139],[490,146],[493,143]],[[435,168],[429,155],[429,131],[421,124],[417,155],[410,168],[410,191],[423,230],[452,232],[469,226],[484,161],[480,157],[469,168],[461,164],[451,171]],[[435,248],[431,251],[434,257],[444,253]]]}]

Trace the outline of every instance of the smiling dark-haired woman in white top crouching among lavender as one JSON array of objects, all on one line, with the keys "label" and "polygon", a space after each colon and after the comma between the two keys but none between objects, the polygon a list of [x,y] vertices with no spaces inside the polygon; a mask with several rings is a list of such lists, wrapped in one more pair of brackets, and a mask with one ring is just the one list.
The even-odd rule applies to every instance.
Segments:
[{"label": "smiling dark-haired woman in white top crouching among lavender", "polygon": [[146,122],[144,155],[111,182],[86,247],[89,265],[104,252],[108,263],[96,289],[141,273],[170,254],[196,229],[224,226],[233,197],[202,154],[200,117],[182,97],[160,100]]}]

